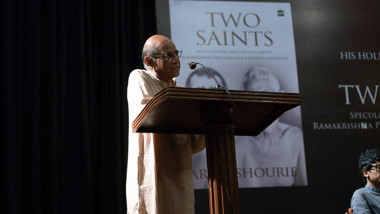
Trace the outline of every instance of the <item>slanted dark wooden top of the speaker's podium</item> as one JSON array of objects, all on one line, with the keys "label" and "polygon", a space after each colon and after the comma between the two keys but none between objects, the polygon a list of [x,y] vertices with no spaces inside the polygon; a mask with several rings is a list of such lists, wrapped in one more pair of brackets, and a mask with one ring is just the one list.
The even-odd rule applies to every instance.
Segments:
[{"label": "slanted dark wooden top of the speaker's podium", "polygon": [[[239,121],[239,124],[235,125],[235,135],[256,136],[284,112],[302,102],[299,93],[239,90],[229,92],[236,106],[236,121]],[[133,121],[132,130],[148,133],[204,134],[200,111],[206,106],[233,108],[226,90],[167,87],[145,105]]]}]

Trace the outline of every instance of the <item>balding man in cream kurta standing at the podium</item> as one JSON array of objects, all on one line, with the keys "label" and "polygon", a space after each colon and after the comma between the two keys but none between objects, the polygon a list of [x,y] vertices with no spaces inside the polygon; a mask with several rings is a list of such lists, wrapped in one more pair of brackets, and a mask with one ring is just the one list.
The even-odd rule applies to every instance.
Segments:
[{"label": "balding man in cream kurta standing at the podium", "polygon": [[169,38],[151,36],[142,51],[146,70],[129,75],[128,214],[195,212],[192,154],[205,147],[204,136],[132,132],[133,120],[157,92],[181,87],[175,80],[181,52]]}]

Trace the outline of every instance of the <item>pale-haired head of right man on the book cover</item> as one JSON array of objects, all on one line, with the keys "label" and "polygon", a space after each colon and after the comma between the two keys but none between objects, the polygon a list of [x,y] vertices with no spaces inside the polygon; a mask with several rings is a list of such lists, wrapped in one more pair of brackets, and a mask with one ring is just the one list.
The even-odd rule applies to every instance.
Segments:
[{"label": "pale-haired head of right man on the book cover", "polygon": [[280,83],[277,77],[264,67],[253,67],[243,78],[243,86],[246,91],[280,92]]}]

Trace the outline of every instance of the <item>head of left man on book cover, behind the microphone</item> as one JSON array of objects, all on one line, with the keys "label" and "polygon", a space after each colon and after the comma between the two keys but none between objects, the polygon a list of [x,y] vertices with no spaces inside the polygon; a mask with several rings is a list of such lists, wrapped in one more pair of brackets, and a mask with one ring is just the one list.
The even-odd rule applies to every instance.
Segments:
[{"label": "head of left man on book cover, behind the microphone", "polygon": [[[214,69],[207,68],[207,70],[215,77],[222,87],[227,87],[224,78],[219,74],[219,72]],[[212,77],[203,68],[197,68],[193,71],[186,80],[186,87],[188,88],[215,88],[216,83]]]}]

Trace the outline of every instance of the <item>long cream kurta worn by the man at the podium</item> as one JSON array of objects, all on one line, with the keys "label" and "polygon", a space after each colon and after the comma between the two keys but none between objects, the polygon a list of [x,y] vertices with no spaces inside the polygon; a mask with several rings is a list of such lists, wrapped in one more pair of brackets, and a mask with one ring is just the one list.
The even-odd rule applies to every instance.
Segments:
[{"label": "long cream kurta worn by the man at the podium", "polygon": [[134,70],[128,81],[129,147],[127,210],[135,213],[194,213],[192,136],[133,133],[132,121],[154,94],[175,79],[159,80]]}]

